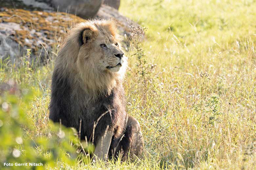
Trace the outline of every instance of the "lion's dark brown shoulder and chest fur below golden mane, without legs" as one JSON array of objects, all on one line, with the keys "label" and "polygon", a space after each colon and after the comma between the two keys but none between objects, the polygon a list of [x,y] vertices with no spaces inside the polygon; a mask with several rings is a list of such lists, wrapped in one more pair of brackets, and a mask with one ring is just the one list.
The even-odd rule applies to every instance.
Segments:
[{"label": "lion's dark brown shoulder and chest fur below golden mane, without legs", "polygon": [[[60,122],[66,127],[75,127],[79,131],[80,119],[82,119],[81,139],[89,141],[94,122],[107,110],[110,110],[100,118],[94,132],[94,144],[97,143],[98,136],[104,134],[109,125],[111,128],[119,129],[123,132],[126,124],[126,112],[124,110],[124,97],[122,86],[117,86],[110,95],[99,95],[95,101],[86,106],[81,101],[87,94],[81,93],[81,89],[72,89],[68,77],[58,78],[58,70],[54,70],[52,78],[52,96],[50,103],[50,116],[53,122]],[[78,90],[76,94],[74,90]],[[116,130],[117,131],[117,130]],[[115,134],[115,137],[119,137]],[[92,141],[92,139],[91,139]]]}]

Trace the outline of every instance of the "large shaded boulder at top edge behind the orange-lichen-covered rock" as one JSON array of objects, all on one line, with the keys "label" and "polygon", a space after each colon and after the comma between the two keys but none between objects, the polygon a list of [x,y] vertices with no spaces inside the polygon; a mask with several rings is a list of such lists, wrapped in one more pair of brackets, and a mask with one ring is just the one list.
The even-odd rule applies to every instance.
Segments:
[{"label": "large shaded boulder at top edge behind the orange-lichen-covered rock", "polygon": [[61,11],[92,18],[97,13],[103,0],[1,0],[0,7],[26,10]]}]

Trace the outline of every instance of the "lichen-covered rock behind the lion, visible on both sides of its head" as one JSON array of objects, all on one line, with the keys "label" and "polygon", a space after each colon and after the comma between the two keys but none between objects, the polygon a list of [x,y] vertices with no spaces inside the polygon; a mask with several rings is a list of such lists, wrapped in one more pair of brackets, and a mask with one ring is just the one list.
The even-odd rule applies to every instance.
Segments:
[{"label": "lichen-covered rock behind the lion, visible on both sides of its head", "polygon": [[[116,9],[102,5],[96,18],[116,18],[121,36],[129,36],[132,21],[120,15]],[[85,20],[64,12],[29,11],[24,9],[0,8],[0,58],[11,61],[26,55],[31,49],[31,58],[41,61],[56,56],[66,32],[76,23]],[[126,40],[126,39],[124,39]],[[125,47],[128,42],[124,41]]]}]

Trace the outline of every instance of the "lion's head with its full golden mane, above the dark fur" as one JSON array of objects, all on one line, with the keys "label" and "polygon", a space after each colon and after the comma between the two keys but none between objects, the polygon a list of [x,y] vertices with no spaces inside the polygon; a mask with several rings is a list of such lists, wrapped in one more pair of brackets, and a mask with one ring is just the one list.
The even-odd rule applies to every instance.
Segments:
[{"label": "lion's head with its full golden mane, above the dark fur", "polygon": [[[88,93],[110,93],[125,74],[127,58],[122,51],[114,20],[89,20],[77,24],[59,51],[56,65]],[[65,73],[66,72],[66,73]]]}]

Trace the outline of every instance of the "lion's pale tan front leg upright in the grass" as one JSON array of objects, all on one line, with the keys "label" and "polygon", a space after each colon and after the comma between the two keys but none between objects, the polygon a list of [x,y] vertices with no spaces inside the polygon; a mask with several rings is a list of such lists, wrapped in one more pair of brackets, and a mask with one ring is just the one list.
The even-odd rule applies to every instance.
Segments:
[{"label": "lion's pale tan front leg upright in the grass", "polygon": [[98,138],[96,148],[94,151],[94,157],[93,157],[94,161],[108,160],[108,151],[109,151],[109,147],[110,147],[111,139],[113,135],[114,135],[114,130],[107,129],[107,131]]}]

